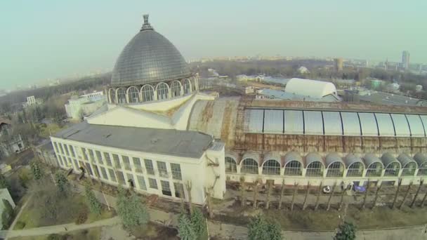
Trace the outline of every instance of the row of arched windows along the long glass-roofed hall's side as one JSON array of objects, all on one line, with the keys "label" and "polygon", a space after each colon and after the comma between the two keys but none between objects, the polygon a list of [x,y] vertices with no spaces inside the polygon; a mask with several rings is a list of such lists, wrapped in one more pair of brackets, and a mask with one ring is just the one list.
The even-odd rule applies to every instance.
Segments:
[{"label": "row of arched windows along the long glass-roofed hall's side", "polygon": [[[308,161],[309,155],[307,155],[306,161],[304,162],[299,160],[282,162],[280,158],[265,159],[263,162],[259,162],[261,160],[256,157],[246,157],[243,158],[242,161],[238,162],[234,156],[226,156],[225,172],[249,173],[256,175],[324,176],[326,178],[397,177],[414,176],[415,173],[417,173],[417,175],[427,175],[427,156],[423,159],[420,159],[419,157],[418,159],[415,158],[415,160],[407,161],[406,164],[401,164],[398,159],[385,159],[384,156],[382,156],[381,159],[354,159],[353,162],[349,162],[348,160],[345,162],[341,159],[335,159],[334,161],[329,161],[329,164],[326,164],[326,161],[324,161],[320,155],[318,158],[313,158],[313,156],[311,156]],[[388,162],[384,164],[383,161]]]}]

